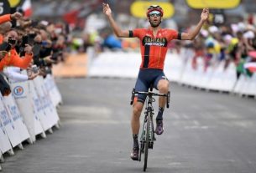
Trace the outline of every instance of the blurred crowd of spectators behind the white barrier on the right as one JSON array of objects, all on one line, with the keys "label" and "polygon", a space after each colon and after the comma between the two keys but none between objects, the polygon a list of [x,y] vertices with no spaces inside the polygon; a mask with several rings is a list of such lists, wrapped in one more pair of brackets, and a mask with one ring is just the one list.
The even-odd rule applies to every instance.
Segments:
[{"label": "blurred crowd of spectators behind the white barrier on the right", "polygon": [[[227,26],[206,26],[193,42],[180,42],[174,46],[178,52],[185,48],[183,56],[191,58],[191,66],[197,69],[198,59],[203,61],[204,71],[224,61],[224,70],[234,63],[240,74],[251,76],[253,70],[244,64],[256,61],[256,28],[253,23],[232,23]],[[189,51],[188,51],[189,50]]]}]

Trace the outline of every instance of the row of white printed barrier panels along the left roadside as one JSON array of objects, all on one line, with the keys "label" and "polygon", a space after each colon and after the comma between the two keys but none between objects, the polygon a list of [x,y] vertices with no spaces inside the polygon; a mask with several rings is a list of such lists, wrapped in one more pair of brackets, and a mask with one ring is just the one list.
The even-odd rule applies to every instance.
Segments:
[{"label": "row of white printed barrier panels along the left roadside", "polygon": [[0,93],[0,162],[3,154],[14,155],[14,147],[23,149],[24,140],[32,144],[36,135],[45,138],[45,131],[52,133],[51,128],[59,128],[60,121],[55,105],[62,98],[51,75],[9,85],[11,94]]}]

